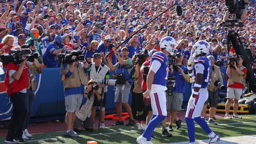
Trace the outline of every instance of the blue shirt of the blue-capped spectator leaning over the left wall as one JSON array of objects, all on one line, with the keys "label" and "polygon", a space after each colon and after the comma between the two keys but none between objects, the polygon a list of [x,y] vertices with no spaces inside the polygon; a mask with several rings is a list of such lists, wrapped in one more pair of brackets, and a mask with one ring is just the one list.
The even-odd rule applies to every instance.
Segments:
[{"label": "blue shirt of the blue-capped spectator leaning over the left wall", "polygon": [[58,61],[57,61],[57,55],[53,54],[53,51],[56,49],[61,49],[64,47],[64,44],[61,44],[61,46],[57,47],[55,42],[51,42],[48,44],[46,48],[45,54],[43,54],[43,63],[46,67],[57,67]]}]

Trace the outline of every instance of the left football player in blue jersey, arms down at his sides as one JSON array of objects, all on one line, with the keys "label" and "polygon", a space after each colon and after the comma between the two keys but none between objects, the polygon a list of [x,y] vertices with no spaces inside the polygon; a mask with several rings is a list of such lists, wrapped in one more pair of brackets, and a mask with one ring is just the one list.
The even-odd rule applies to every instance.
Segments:
[{"label": "left football player in blue jersey, arms down at his sides", "polygon": [[146,98],[150,96],[153,116],[144,133],[137,138],[140,144],[151,143],[155,127],[167,116],[165,91],[169,75],[168,56],[174,54],[175,46],[176,42],[173,37],[163,37],[160,41],[161,52],[156,52],[151,57],[150,71],[146,81],[147,90],[143,96]]}]

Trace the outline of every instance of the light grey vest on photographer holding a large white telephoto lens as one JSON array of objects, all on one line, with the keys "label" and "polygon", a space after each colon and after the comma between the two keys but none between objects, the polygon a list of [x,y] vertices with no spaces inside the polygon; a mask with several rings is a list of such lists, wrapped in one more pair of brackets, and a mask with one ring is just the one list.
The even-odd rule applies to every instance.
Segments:
[{"label": "light grey vest on photographer holding a large white telephoto lens", "polygon": [[[101,63],[101,65],[99,66],[99,68],[96,71],[95,63],[92,63],[90,78],[93,78],[95,80],[96,79],[104,80],[108,71],[109,71],[109,67],[107,67],[103,63]],[[101,91],[102,91],[102,88],[99,88],[98,92],[101,93]],[[107,86],[105,86],[104,92],[107,92]]]}]

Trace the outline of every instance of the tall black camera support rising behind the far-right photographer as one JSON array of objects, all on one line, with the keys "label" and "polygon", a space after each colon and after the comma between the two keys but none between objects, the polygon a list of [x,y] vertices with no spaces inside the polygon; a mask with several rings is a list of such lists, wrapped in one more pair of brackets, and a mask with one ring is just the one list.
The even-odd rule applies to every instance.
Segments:
[{"label": "tall black camera support rising behind the far-right photographer", "polygon": [[[253,62],[253,57],[250,51],[245,51],[246,49],[243,46],[243,42],[241,41],[238,35],[239,27],[244,27],[244,24],[238,23],[238,19],[235,19],[235,14],[231,14],[231,15],[232,15],[232,19],[227,20],[225,22],[226,24],[223,24],[222,26],[228,27],[228,32],[226,32],[228,46],[231,44],[237,56],[242,55],[244,57],[243,66],[245,66],[248,69],[247,77],[245,80],[248,82],[248,92],[249,92],[250,90],[254,90],[253,87],[255,85],[255,76],[254,76],[252,66],[250,65],[250,63]],[[228,47],[228,54],[229,54],[229,51],[230,51],[230,47]]]}]

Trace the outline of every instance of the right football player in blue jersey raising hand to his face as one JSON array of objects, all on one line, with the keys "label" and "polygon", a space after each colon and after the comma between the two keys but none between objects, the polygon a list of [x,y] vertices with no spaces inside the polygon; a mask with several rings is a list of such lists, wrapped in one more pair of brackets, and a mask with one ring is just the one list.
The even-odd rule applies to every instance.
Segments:
[{"label": "right football player in blue jersey raising hand to his face", "polygon": [[[208,99],[206,86],[210,80],[211,63],[206,57],[210,51],[210,44],[206,41],[198,41],[194,44],[192,53],[188,61],[189,76],[192,79],[192,94],[186,109],[185,121],[188,128],[189,143],[195,143],[195,124],[203,128],[208,133],[208,143],[215,143],[220,140],[219,135],[211,131],[208,124],[200,117],[205,101]],[[194,66],[192,63],[194,62]]]}]

